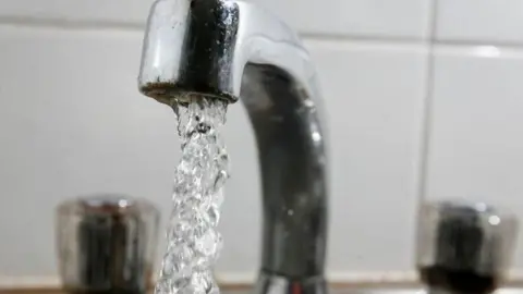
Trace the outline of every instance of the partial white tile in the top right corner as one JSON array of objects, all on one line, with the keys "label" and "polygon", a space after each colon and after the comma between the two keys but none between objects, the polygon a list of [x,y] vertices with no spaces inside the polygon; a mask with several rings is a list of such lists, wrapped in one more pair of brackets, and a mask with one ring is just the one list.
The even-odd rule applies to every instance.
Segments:
[{"label": "partial white tile in the top right corner", "polygon": [[438,0],[437,37],[483,44],[523,42],[521,0]]}]

